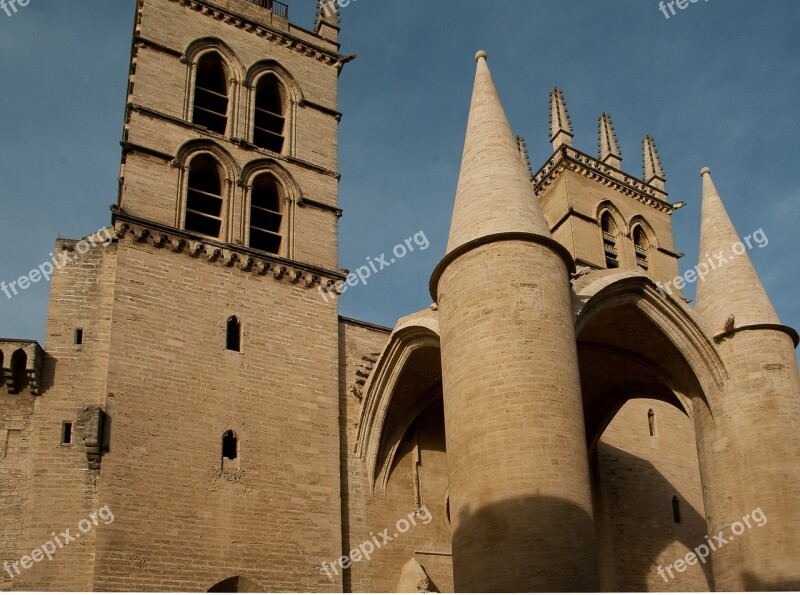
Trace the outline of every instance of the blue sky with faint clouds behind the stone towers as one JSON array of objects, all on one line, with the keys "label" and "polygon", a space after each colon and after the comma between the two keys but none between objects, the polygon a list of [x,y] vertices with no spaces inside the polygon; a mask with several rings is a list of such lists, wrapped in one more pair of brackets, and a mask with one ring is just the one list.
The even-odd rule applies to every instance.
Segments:
[{"label": "blue sky with faint clouds behind the stone towers", "polygon": [[[310,0],[290,1],[310,28]],[[0,12],[0,280],[26,274],[56,237],[110,221],[133,0],[30,0]],[[473,56],[486,49],[534,168],[549,156],[548,91],[564,89],[575,145],[594,154],[614,117],[623,168],[640,175],[655,137],[682,268],[697,262],[701,180],[710,166],[785,324],[800,327],[800,2],[700,0],[666,19],[655,0],[352,0],[342,9],[340,266],[355,269],[424,231],[431,245],[349,289],[346,316],[392,326],[431,302],[458,178]],[[694,289],[688,295],[693,297]],[[0,294],[0,336],[44,338],[49,287]]]}]

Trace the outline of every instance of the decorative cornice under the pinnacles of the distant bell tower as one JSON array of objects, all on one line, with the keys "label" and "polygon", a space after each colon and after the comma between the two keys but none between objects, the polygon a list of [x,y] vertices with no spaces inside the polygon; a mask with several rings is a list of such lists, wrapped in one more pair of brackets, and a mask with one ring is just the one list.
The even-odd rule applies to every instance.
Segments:
[{"label": "decorative cornice under the pinnacles of the distant bell tower", "polygon": [[559,147],[533,177],[536,195],[540,196],[567,169],[613,188],[662,213],[671,215],[675,211],[675,207],[666,202],[666,192],[567,146]]}]

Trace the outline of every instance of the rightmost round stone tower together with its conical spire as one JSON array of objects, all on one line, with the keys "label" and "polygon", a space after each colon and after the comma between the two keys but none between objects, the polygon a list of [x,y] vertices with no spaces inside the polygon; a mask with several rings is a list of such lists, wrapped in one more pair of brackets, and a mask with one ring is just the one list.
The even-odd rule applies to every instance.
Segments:
[{"label": "rightmost round stone tower together with its conical spire", "polygon": [[[797,590],[800,568],[800,377],[797,333],[782,326],[708,168],[696,310],[728,370],[714,399],[716,439],[700,449],[709,534],[733,536],[713,554],[719,591]],[[753,524],[753,511],[768,519]],[[745,529],[745,525],[748,528]],[[743,531],[747,531],[742,538]]]}]

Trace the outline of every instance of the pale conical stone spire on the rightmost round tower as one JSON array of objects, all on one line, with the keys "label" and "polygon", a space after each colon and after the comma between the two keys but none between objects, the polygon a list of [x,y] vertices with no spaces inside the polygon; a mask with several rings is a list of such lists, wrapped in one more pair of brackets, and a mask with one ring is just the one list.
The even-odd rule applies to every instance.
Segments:
[{"label": "pale conical stone spire on the rightmost round tower", "polygon": [[[748,248],[736,233],[722,204],[711,179],[711,170],[705,167],[700,173],[703,176],[703,209],[700,264],[697,268],[697,312],[714,333],[723,332],[726,326],[733,325],[738,328],[751,324],[780,324],[747,255]],[[756,232],[753,236],[747,236],[744,242],[749,241],[755,247],[761,235]],[[761,240],[761,245],[764,245],[764,240],[766,237]],[[704,272],[706,269],[707,273]],[[732,316],[734,320],[731,320]]]}]

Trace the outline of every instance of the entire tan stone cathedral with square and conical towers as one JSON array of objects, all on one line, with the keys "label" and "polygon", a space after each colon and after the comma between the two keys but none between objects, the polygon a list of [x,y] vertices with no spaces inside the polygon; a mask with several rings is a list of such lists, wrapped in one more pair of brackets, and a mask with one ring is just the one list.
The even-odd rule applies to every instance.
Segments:
[{"label": "entire tan stone cathedral with square and conical towers", "polygon": [[708,168],[680,275],[655,141],[554,89],[535,169],[479,51],[431,306],[345,318],[339,30],[136,0],[110,224],[0,339],[0,589],[800,589],[798,333]]}]

